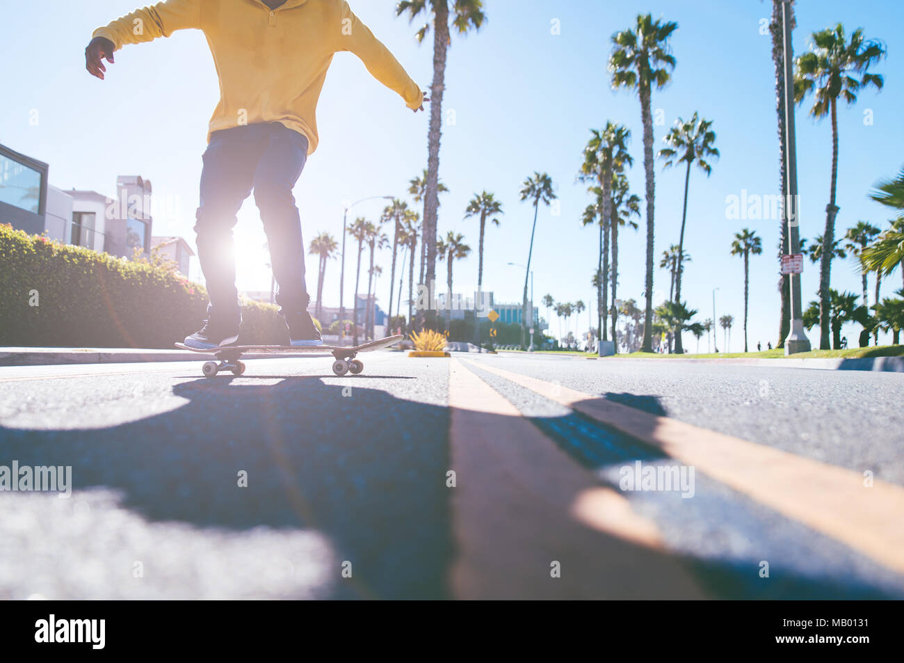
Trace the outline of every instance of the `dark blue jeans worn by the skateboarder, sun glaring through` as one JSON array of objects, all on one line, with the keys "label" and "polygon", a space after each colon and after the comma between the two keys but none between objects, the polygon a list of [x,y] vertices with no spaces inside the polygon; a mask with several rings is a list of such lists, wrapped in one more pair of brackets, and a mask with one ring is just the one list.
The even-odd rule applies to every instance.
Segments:
[{"label": "dark blue jeans worn by the skateboarder, sun glaring through", "polygon": [[292,188],[307,159],[307,138],[278,122],[214,131],[204,152],[201,206],[195,214],[198,260],[211,298],[209,313],[238,325],[232,228],[241,204],[254,190],[270,248],[283,313],[307,309],[305,245]]}]

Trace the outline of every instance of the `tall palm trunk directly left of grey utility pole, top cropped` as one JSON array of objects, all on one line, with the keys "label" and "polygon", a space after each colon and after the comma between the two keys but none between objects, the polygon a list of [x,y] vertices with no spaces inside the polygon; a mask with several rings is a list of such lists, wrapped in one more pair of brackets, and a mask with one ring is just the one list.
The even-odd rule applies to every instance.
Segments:
[{"label": "tall palm trunk directly left of grey utility pole, top cropped", "polygon": [[[776,71],[776,116],[778,120],[778,177],[779,191],[782,200],[787,201],[787,182],[785,179],[785,145],[787,134],[787,120],[785,117],[785,24],[782,18],[783,0],[772,0],[772,20],[769,22],[769,33],[772,35],[772,63]],[[791,19],[791,29],[796,28],[794,15],[794,2],[788,5],[788,16]],[[790,54],[790,53],[789,53]],[[790,253],[787,243],[787,224],[784,219],[778,220],[780,231],[778,232],[778,260],[786,253]],[[791,289],[789,275],[782,274],[779,270],[778,289],[781,293],[781,311],[778,323],[778,347],[785,347],[785,337],[791,329]]]}]

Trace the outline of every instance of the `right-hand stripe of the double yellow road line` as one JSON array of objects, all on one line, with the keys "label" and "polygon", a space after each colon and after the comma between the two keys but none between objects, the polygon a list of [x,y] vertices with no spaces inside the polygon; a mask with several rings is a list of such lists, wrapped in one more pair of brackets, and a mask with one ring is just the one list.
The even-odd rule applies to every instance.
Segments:
[{"label": "right-hand stripe of the double yellow road line", "polygon": [[642,440],[904,573],[904,488],[480,362],[483,370]]}]

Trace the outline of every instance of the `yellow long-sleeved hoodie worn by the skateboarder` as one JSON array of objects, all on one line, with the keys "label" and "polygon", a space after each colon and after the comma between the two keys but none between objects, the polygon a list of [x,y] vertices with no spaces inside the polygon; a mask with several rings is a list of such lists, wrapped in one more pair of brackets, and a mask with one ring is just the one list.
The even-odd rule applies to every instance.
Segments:
[{"label": "yellow long-sleeved hoodie worn by the skateboarder", "polygon": [[167,0],[127,14],[93,36],[106,37],[118,50],[188,28],[207,37],[220,76],[210,131],[280,122],[307,137],[310,155],[317,147],[317,99],[339,51],[361,58],[408,108],[423,101],[418,84],[345,0],[287,0],[274,10],[260,0]]}]

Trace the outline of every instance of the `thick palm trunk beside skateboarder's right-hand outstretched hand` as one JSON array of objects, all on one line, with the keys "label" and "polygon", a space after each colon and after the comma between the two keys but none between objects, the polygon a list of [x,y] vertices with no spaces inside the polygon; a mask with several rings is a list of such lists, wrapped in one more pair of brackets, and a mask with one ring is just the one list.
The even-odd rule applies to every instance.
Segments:
[{"label": "thick palm trunk beside skateboarder's right-hand outstretched hand", "polygon": [[[424,245],[427,250],[427,286],[437,278],[437,211],[439,206],[439,140],[442,136],[443,92],[446,90],[446,52],[449,43],[447,0],[432,3],[433,84],[430,86],[430,127],[428,130],[427,191],[424,195]],[[419,316],[421,323],[426,311]],[[423,326],[423,324],[421,324]]]}]

